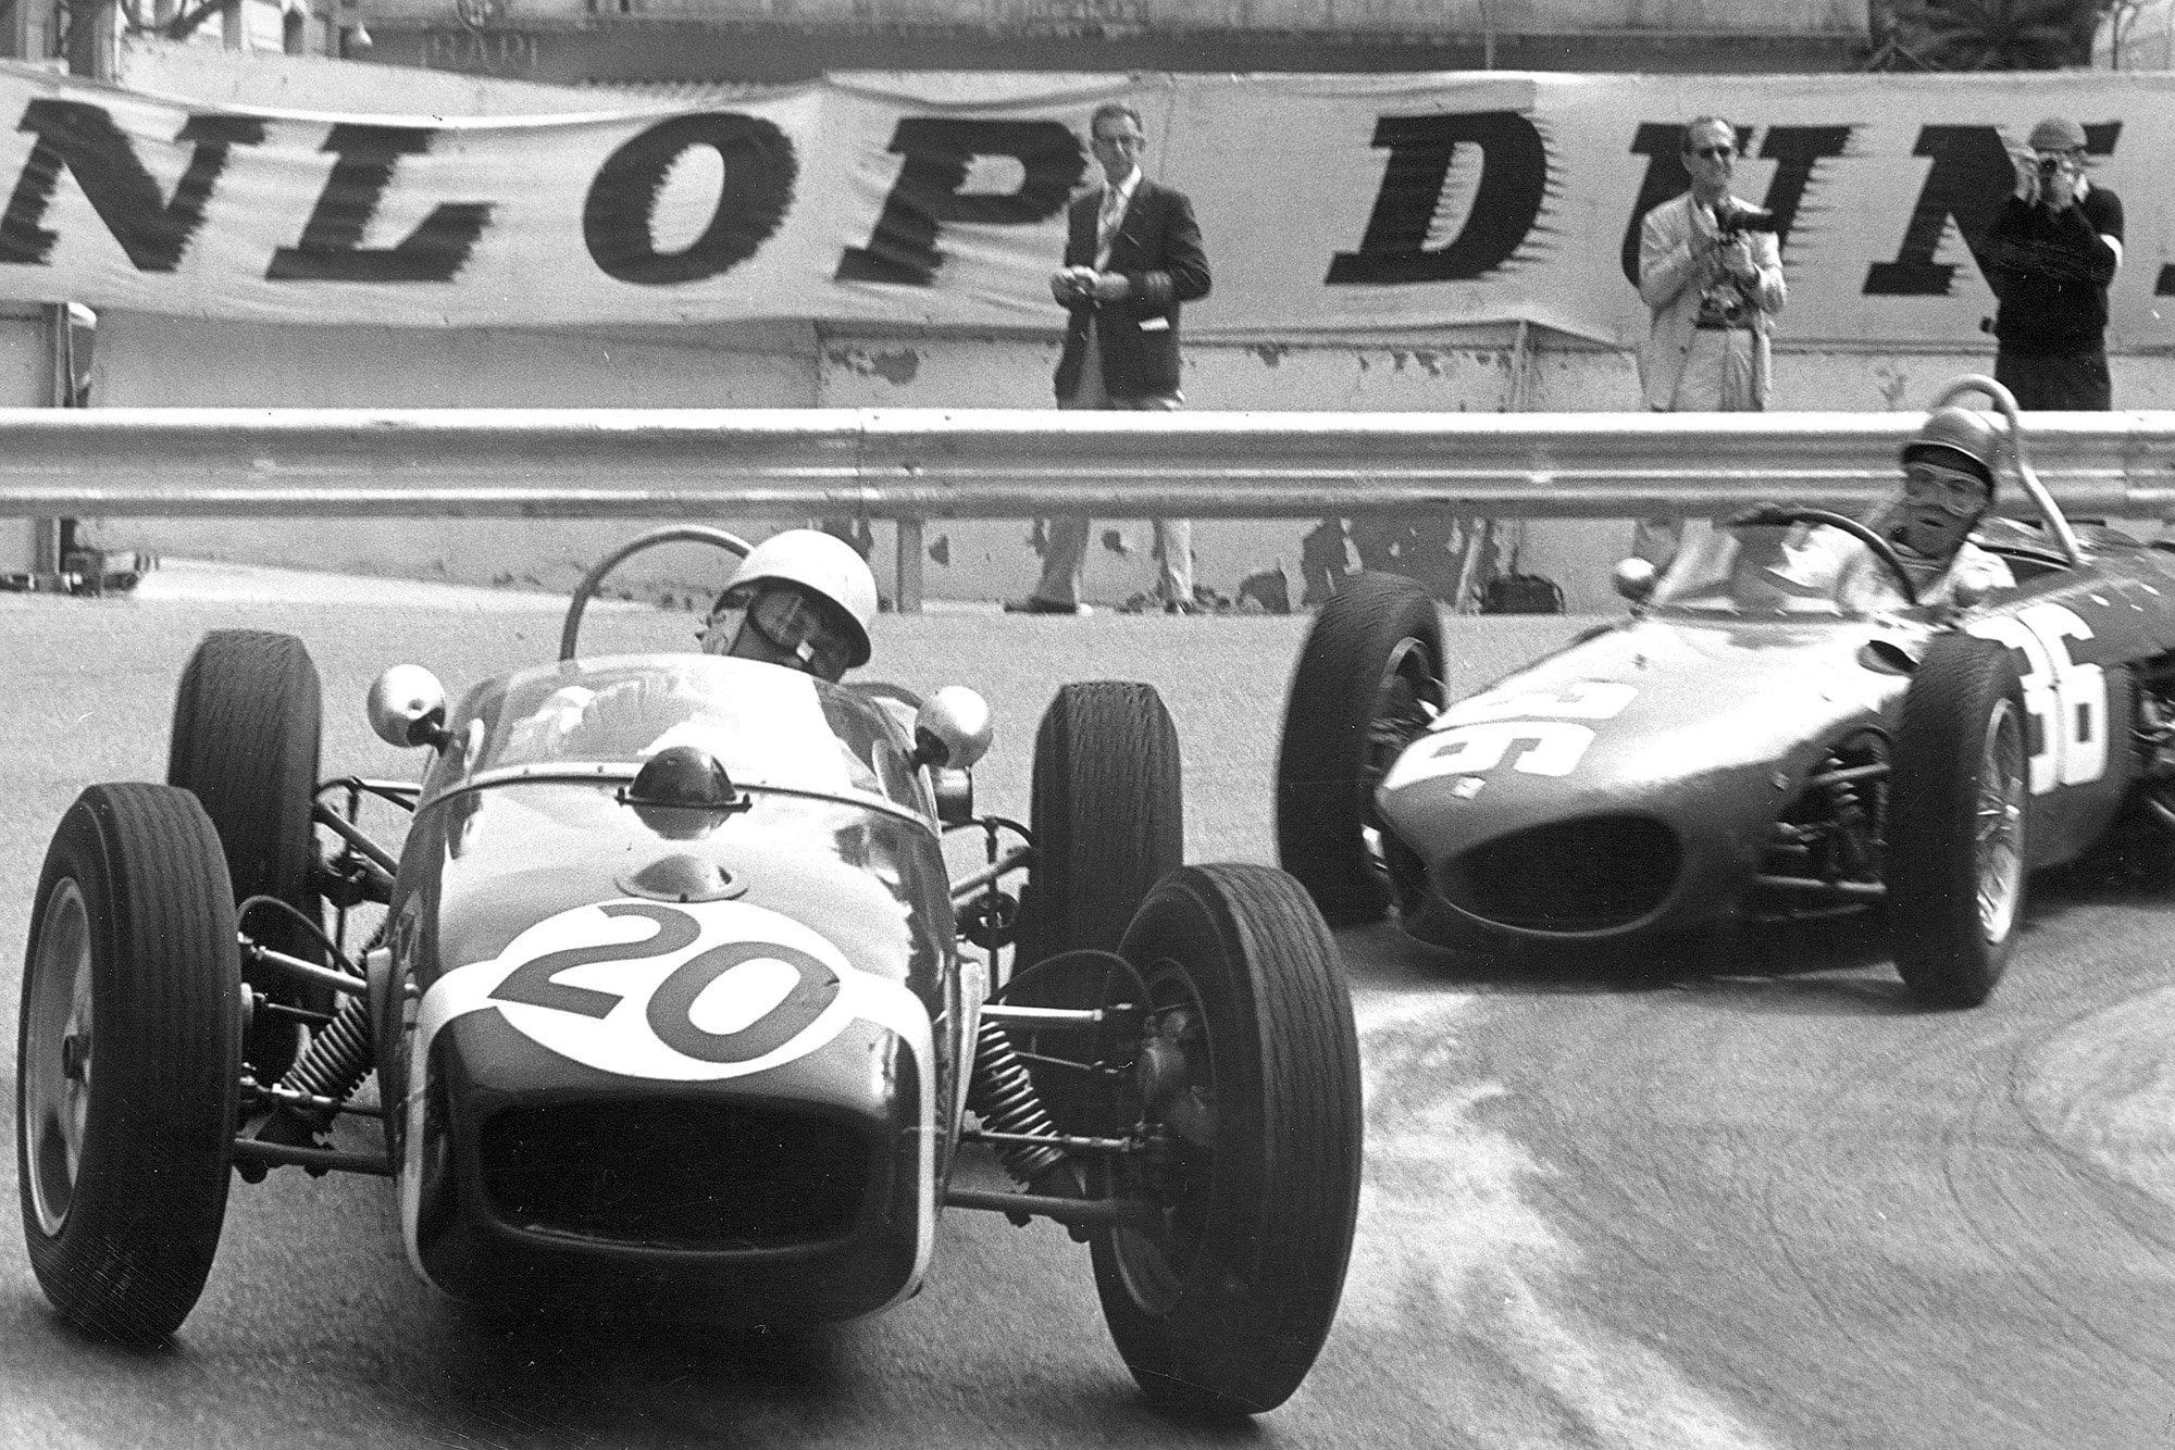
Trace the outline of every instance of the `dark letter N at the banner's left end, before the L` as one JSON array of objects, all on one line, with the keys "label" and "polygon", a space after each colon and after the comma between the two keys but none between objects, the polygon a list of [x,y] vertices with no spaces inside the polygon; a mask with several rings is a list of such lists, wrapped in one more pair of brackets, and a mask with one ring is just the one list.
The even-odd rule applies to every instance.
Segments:
[{"label": "dark letter N at the banner's left end, before the L", "polygon": [[24,107],[17,130],[33,133],[37,143],[0,213],[0,263],[46,265],[59,235],[41,222],[61,167],[67,167],[137,272],[172,272],[181,263],[204,224],[204,204],[226,170],[228,150],[265,139],[265,124],[248,115],[191,115],[174,139],[196,150],[174,198],[163,200],[128,133],[100,107],[41,96]]}]

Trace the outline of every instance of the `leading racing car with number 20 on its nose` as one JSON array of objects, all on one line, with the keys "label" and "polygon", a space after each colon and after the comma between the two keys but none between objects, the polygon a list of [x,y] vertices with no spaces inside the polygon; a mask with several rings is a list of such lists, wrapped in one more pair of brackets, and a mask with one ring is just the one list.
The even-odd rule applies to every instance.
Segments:
[{"label": "leading racing car with number 20 on its nose", "polygon": [[[1020,826],[974,813],[974,691],[583,657],[605,572],[689,539],[748,552],[635,539],[555,663],[455,709],[387,670],[370,722],[426,752],[420,783],[320,780],[298,639],[198,646],[167,783],[85,789],[37,885],[17,1152],[52,1304],[170,1335],[231,1180],[281,1165],[391,1178],[424,1280],[544,1315],[866,1315],[918,1289],[946,1207],[992,1209],[1088,1243],[1153,1402],[1281,1404],[1359,1193],[1312,900],[1181,863],[1146,685],[1057,691]],[[959,880],[953,830],[979,833]],[[955,1174],[968,1146],[1014,1187]]]}]

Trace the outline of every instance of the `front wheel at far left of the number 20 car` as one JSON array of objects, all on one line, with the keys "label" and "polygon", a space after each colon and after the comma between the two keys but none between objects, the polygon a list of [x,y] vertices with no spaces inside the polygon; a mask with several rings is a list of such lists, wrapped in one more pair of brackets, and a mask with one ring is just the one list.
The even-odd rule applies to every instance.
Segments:
[{"label": "front wheel at far left of the number 20 car", "polygon": [[15,1041],[30,1270],[76,1326],[159,1341],[226,1220],[241,980],[220,837],[187,791],[94,785],[46,852]]}]

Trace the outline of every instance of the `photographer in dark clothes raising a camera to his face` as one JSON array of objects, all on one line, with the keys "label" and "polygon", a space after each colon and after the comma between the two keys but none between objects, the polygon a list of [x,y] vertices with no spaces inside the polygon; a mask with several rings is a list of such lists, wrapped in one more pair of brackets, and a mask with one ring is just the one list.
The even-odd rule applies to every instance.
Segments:
[{"label": "photographer in dark clothes raising a camera to his face", "polygon": [[2086,178],[2084,126],[2068,117],[2042,120],[2010,159],[2016,189],[1979,241],[2001,302],[1994,380],[2021,409],[2112,409],[2108,283],[2123,263],[2123,202]]}]

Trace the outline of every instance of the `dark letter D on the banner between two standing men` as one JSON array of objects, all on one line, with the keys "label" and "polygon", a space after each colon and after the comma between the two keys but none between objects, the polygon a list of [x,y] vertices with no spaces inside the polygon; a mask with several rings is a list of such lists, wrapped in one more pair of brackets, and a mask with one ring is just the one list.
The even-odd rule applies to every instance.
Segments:
[{"label": "dark letter D on the banner between two standing men", "polygon": [[[1442,183],[1459,146],[1479,146],[1481,185],[1457,235],[1440,248],[1427,237],[1442,204]],[[1329,287],[1466,283],[1509,261],[1549,193],[1549,148],[1516,111],[1383,115],[1375,148],[1388,150],[1381,193],[1357,252],[1329,259]]]}]

